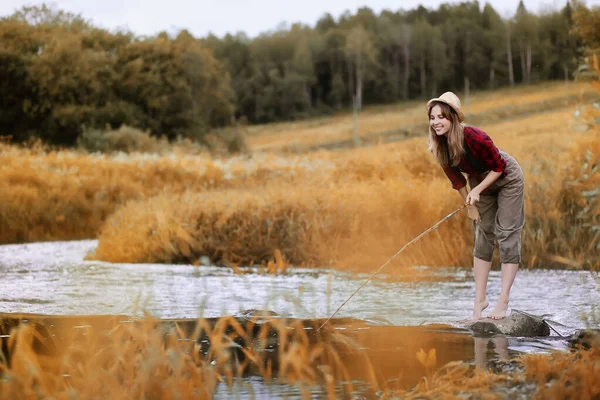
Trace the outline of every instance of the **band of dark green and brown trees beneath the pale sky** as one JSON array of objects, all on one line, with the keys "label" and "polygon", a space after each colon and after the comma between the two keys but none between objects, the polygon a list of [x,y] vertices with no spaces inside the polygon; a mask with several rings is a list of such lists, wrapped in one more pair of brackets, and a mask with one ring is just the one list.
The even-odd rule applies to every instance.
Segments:
[{"label": "band of dark green and brown trees beneath the pale sky", "polygon": [[249,38],[109,31],[45,4],[0,20],[0,136],[72,145],[128,125],[170,139],[437,96],[571,79],[583,3],[502,17],[489,3],[364,7]]}]

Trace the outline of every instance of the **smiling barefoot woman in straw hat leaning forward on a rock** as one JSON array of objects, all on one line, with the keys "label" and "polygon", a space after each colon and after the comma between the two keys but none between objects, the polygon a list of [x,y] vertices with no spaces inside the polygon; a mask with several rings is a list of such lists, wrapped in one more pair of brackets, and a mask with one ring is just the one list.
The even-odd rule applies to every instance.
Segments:
[{"label": "smiling barefoot woman in straw hat leaning forward on a rock", "polygon": [[[475,303],[472,320],[488,306],[487,280],[496,241],[500,251],[502,289],[489,318],[510,313],[510,288],[521,262],[521,231],[525,223],[521,167],[499,150],[482,130],[463,124],[458,97],[446,92],[427,103],[429,150],[465,203],[475,225],[473,274]],[[470,191],[467,191],[468,175]]]}]

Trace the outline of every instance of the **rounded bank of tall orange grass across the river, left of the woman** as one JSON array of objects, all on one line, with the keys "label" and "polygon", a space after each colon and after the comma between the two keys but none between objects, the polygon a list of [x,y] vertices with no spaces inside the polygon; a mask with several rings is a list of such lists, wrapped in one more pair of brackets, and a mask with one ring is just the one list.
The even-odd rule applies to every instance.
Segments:
[{"label": "rounded bank of tall orange grass across the river, left of the woman", "polygon": [[[451,201],[419,205],[419,193],[446,189],[440,182],[414,183],[413,188],[405,193],[403,185],[386,180],[339,185],[336,190],[265,186],[165,194],[116,211],[103,227],[95,258],[194,263],[208,256],[213,262],[247,265],[268,262],[280,251],[295,265],[372,266],[453,206]],[[412,215],[416,207],[424,214],[420,218]],[[451,235],[457,224],[452,221],[435,235]],[[446,250],[440,257],[430,246],[416,247],[412,261],[429,251],[429,261],[448,262],[453,252],[448,243],[435,245]]]}]

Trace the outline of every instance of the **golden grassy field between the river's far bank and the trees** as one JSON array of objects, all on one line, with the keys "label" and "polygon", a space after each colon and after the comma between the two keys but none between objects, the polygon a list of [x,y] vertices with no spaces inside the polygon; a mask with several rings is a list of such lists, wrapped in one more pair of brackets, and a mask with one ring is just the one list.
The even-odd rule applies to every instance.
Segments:
[{"label": "golden grassy field between the river's far bank and the trees", "polygon": [[[598,243],[598,199],[590,191],[599,181],[598,126],[575,117],[577,109],[595,111],[588,101],[569,103],[573,94],[583,99],[593,89],[571,84],[566,90],[539,84],[469,100],[473,118],[488,113],[489,122],[478,126],[525,172],[527,267],[597,265],[591,250]],[[563,106],[540,103],[565,96]],[[530,111],[494,117],[515,108]],[[2,145],[0,242],[97,237],[90,257],[106,261],[196,264],[208,257],[235,267],[273,262],[278,254],[284,264],[371,270],[459,207],[460,198],[427,152],[422,132],[340,151],[275,150],[277,140],[318,143],[350,118],[256,127],[249,136],[253,153],[221,159]],[[365,129],[419,120],[426,129],[422,104],[375,108],[360,118]],[[260,151],[263,141],[273,151]],[[471,242],[469,221],[459,215],[397,264],[470,265]]]}]

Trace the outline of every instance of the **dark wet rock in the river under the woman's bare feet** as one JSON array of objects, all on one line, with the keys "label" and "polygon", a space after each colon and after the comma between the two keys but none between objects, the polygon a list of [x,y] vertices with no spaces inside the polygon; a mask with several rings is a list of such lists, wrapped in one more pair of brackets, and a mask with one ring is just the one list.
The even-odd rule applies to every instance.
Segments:
[{"label": "dark wet rock in the river under the woman's bare feet", "polygon": [[476,334],[502,334],[506,336],[550,336],[550,327],[544,320],[535,315],[512,310],[512,313],[503,319],[485,318],[467,324],[467,329]]}]

